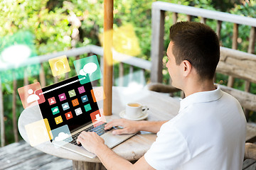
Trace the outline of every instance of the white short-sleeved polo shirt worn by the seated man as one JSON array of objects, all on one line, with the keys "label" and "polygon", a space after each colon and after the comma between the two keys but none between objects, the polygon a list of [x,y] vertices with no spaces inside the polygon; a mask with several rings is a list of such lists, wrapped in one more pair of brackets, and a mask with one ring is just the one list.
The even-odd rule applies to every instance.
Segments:
[{"label": "white short-sleeved polo shirt worn by the seated man", "polygon": [[144,155],[154,169],[242,169],[245,115],[240,103],[219,86],[181,100],[178,115],[156,135]]}]

